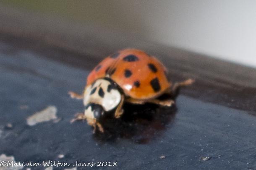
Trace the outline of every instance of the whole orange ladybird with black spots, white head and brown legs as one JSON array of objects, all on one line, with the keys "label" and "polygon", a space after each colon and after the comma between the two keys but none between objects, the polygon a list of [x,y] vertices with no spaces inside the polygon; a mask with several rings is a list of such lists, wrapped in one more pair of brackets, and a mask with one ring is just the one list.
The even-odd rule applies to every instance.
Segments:
[{"label": "whole orange ladybird with black spots, white head and brown legs", "polygon": [[123,114],[123,102],[133,104],[154,103],[170,107],[172,99],[157,99],[162,94],[170,94],[180,86],[191,84],[193,80],[172,83],[167,80],[163,64],[144,51],[125,49],[118,51],[99,63],[87,77],[83,95],[69,92],[71,97],[84,99],[85,112],[76,114],[75,119],[87,119],[89,125],[103,132],[99,118],[104,112],[115,109],[115,118]]}]

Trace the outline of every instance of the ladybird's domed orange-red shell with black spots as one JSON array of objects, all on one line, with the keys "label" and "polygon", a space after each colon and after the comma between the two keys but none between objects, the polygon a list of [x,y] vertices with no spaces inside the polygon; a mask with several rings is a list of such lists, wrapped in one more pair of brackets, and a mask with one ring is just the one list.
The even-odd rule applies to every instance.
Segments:
[{"label": "ladybird's domed orange-red shell with black spots", "polygon": [[125,49],[105,58],[87,77],[89,86],[94,81],[110,77],[134,99],[152,99],[169,87],[165,67],[153,56],[136,49]]}]

